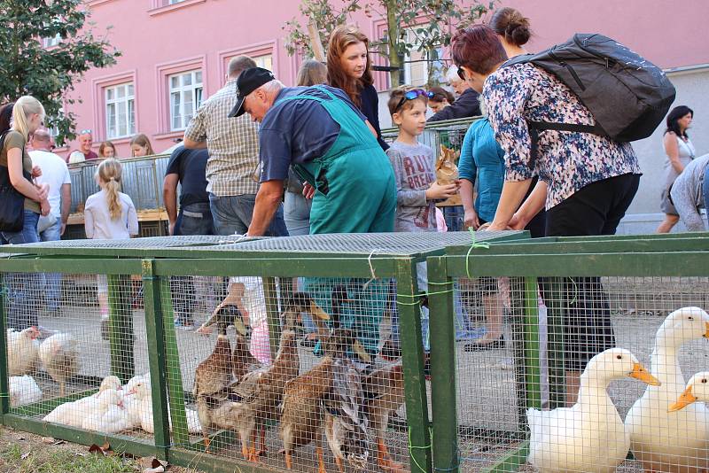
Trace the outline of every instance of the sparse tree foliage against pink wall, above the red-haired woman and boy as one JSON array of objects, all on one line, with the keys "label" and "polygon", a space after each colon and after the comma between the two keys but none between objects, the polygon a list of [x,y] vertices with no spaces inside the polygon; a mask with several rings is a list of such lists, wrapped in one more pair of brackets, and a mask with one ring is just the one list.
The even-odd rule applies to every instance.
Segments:
[{"label": "sparse tree foliage against pink wall, above the red-haired woman and boy", "polygon": [[[495,6],[496,0],[302,0],[300,15],[314,19],[319,29],[323,47],[331,31],[351,20],[353,12],[363,10],[372,18],[386,19],[386,33],[380,38],[370,38],[371,50],[384,55],[389,66],[393,87],[399,85],[398,68],[403,66],[403,58],[412,51],[425,52],[428,59],[429,80],[434,67],[436,51],[448,46],[459,27],[466,27],[479,20]],[[290,55],[302,53],[311,55],[311,40],[308,29],[298,19],[288,21],[284,30],[287,34],[286,48]],[[407,32],[410,32],[407,34]]]}]

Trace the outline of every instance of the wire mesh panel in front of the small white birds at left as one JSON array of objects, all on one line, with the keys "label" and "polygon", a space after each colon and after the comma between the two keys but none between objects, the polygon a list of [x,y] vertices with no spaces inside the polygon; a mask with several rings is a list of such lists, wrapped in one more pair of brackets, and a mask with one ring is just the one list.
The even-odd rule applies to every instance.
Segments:
[{"label": "wire mesh panel in front of the small white birds at left", "polygon": [[152,442],[130,381],[149,371],[131,275],[4,273],[8,413]]}]

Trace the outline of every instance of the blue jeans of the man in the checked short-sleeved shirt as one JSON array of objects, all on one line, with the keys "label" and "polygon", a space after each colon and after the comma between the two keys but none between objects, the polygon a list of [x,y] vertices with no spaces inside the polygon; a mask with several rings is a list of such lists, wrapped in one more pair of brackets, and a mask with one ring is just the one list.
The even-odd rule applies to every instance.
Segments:
[{"label": "blue jeans of the man in the checked short-sleeved shirt", "polygon": [[[249,229],[256,205],[255,194],[217,197],[209,194],[209,206],[214,219],[214,233],[217,235],[244,235]],[[283,205],[273,215],[266,236],[288,236],[288,229],[283,221]]]}]

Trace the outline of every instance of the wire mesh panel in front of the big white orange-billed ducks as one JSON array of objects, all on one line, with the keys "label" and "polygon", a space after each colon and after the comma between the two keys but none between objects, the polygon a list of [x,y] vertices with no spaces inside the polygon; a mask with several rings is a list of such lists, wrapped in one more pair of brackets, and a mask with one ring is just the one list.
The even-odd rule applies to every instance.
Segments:
[{"label": "wire mesh panel in front of the big white orange-billed ducks", "polygon": [[[651,248],[627,244],[638,247]],[[447,260],[448,306],[462,306],[463,317],[454,310],[451,353],[432,345],[434,361],[455,361],[456,379],[450,392],[432,393],[433,450],[442,451],[434,468],[707,468],[709,410],[698,394],[709,375],[706,253],[671,266],[657,250],[572,248],[511,244]],[[462,323],[474,339],[461,339]],[[441,395],[456,399],[455,428],[437,424]],[[452,449],[436,445],[447,435]]]}]

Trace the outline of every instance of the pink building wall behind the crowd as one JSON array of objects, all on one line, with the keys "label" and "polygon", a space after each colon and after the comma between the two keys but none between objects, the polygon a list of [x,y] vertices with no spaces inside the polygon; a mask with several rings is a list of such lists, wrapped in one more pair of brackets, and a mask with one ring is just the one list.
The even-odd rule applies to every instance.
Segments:
[{"label": "pink building wall behind the crowd", "polygon": [[[105,139],[105,87],[135,85],[136,132],[150,136],[155,151],[174,144],[181,131],[170,131],[168,75],[201,70],[204,97],[223,84],[229,58],[238,54],[272,55],[277,77],[292,85],[299,60],[285,51],[285,21],[298,15],[300,0],[90,0],[97,35],[107,35],[121,50],[118,63],[91,70],[76,84],[77,129],[94,130],[95,149]],[[600,32],[626,43],[665,68],[709,63],[709,50],[697,39],[709,16],[706,0],[505,0],[532,21],[536,34],[529,50],[564,41],[574,32]],[[354,17],[375,38],[383,19]],[[386,73],[375,73],[386,88]],[[120,156],[129,156],[129,138],[113,140]],[[76,143],[64,151],[75,149]],[[60,150],[61,151],[61,150]]]}]

